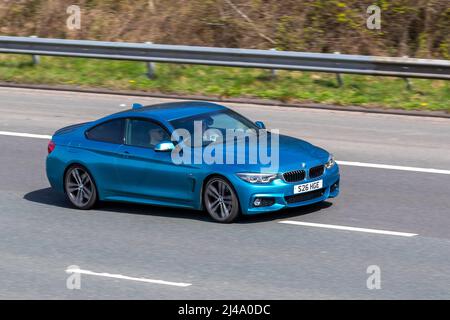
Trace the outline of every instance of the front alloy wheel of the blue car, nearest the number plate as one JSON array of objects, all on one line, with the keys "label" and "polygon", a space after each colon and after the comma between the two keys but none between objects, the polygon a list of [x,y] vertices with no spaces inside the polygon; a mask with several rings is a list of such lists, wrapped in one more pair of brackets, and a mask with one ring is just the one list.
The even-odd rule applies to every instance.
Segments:
[{"label": "front alloy wheel of the blue car, nearest the number plate", "polygon": [[239,215],[239,200],[231,184],[215,177],[206,183],[203,193],[204,205],[217,222],[230,223]]}]

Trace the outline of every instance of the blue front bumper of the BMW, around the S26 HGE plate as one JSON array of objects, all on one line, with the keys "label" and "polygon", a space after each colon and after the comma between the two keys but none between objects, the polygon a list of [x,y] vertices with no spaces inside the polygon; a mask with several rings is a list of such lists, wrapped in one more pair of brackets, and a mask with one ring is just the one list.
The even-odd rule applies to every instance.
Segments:
[{"label": "blue front bumper of the BMW, around the S26 HGE plate", "polygon": [[[285,182],[276,179],[269,184],[250,184],[238,177],[232,178],[239,197],[243,214],[258,214],[277,211],[283,208],[305,206],[337,197],[339,194],[340,174],[338,165],[325,170],[324,174],[315,179],[305,179],[299,182]],[[323,180],[323,187],[317,191],[294,195],[294,186],[308,182]],[[255,206],[256,198],[267,199],[271,205]]]}]

